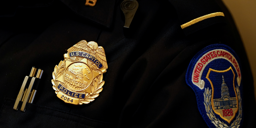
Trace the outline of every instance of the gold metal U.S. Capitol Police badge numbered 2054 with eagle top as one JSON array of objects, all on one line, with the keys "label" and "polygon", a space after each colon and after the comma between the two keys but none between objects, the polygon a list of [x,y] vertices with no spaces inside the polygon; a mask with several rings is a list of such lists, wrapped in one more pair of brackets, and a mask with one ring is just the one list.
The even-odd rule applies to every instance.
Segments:
[{"label": "gold metal U.S. Capitol Police badge numbered 2054 with eagle top", "polygon": [[68,49],[64,61],[52,72],[52,88],[69,104],[88,104],[99,96],[108,64],[104,48],[96,42],[81,40]]}]

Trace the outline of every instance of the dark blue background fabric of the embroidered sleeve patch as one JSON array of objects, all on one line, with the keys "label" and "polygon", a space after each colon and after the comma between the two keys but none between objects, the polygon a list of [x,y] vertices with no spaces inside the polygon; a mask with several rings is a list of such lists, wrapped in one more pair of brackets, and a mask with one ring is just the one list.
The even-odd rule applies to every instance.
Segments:
[{"label": "dark blue background fabric of the embroidered sleeve patch", "polygon": [[[206,75],[208,73],[208,70],[209,68],[212,68],[214,70],[226,70],[228,69],[230,66],[232,67],[234,73],[235,73],[235,87],[239,87],[238,86],[238,83],[237,83],[237,80],[236,78],[238,77],[238,74],[234,68],[234,66],[232,65],[232,63],[230,63],[228,60],[226,59],[223,59],[223,58],[219,58],[219,59],[215,59],[215,60],[212,60],[205,68],[204,68],[204,71],[202,73],[202,77],[201,77],[201,80],[204,80],[205,84],[204,84],[204,89],[200,89],[198,88],[198,86],[194,85],[192,83],[192,74],[193,74],[193,69],[194,69],[194,66],[196,65],[197,61],[204,55],[206,54],[207,52],[211,51],[211,50],[215,50],[215,49],[223,49],[223,50],[226,50],[228,52],[230,52],[237,60],[239,66],[240,66],[240,71],[241,71],[241,77],[242,77],[242,69],[241,69],[241,65],[240,65],[240,61],[239,61],[239,58],[238,56],[235,54],[234,50],[232,50],[230,47],[224,45],[224,44],[212,44],[210,46],[207,46],[205,48],[203,48],[202,50],[200,50],[193,58],[192,60],[190,61],[190,64],[188,66],[188,70],[187,70],[187,73],[186,73],[186,83],[194,90],[195,94],[196,94],[196,100],[197,100],[197,104],[198,104],[198,110],[200,111],[200,114],[202,115],[202,117],[204,118],[204,120],[206,121],[207,125],[210,127],[210,128],[216,128],[216,126],[211,122],[211,120],[208,118],[208,116],[206,115],[206,110],[205,110],[205,106],[204,106],[204,91],[205,91],[205,88],[209,88],[209,89],[212,89],[212,86],[209,82],[209,80],[206,78]],[[213,85],[218,85],[222,84],[222,74],[224,74],[224,80],[226,82],[226,84],[228,85],[228,88],[229,90],[231,89],[231,86],[232,86],[232,89],[233,89],[233,75],[228,75],[230,74],[230,72],[232,73],[231,70],[229,70],[228,72],[224,72],[224,73],[215,73],[213,71],[210,72],[210,80],[212,81]],[[232,73],[233,74],[233,73]],[[216,75],[216,77],[214,78],[213,76]],[[214,98],[220,98],[221,97],[221,94],[220,94],[220,90],[216,90],[217,88],[214,87]],[[240,83],[240,94],[241,94],[241,97],[242,97],[242,79],[241,79],[241,83]],[[233,91],[230,91],[231,92],[231,95],[230,97],[235,97],[235,93]],[[215,97],[216,96],[216,97]],[[219,97],[220,96],[220,97]],[[242,100],[243,102],[243,100]],[[212,106],[213,107],[213,106]],[[240,107],[240,106],[239,106]],[[243,107],[242,107],[243,108]],[[235,118],[230,122],[230,124],[233,123],[233,121],[236,119],[238,115],[238,112],[236,113],[236,116]],[[243,115],[243,114],[242,114]],[[230,124],[228,122],[226,122],[225,120],[223,120],[222,118],[220,118],[220,116],[218,114],[215,114],[216,118],[218,118],[220,121],[224,122],[225,124],[227,124],[228,126],[230,126]],[[241,120],[241,123],[240,123],[240,127],[242,127],[242,122],[243,122],[243,118]]]}]

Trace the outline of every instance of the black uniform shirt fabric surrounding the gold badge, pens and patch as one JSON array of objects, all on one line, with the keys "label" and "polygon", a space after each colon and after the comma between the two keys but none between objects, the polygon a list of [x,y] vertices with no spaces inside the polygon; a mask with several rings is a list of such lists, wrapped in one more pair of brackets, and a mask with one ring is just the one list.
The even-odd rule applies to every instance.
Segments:
[{"label": "black uniform shirt fabric surrounding the gold badge, pens and patch", "polygon": [[[255,128],[253,79],[244,46],[222,2],[138,0],[130,30],[123,29],[122,0],[20,1],[0,17],[0,127],[205,128],[185,74],[193,56],[210,44],[226,44],[240,58],[242,128]],[[12,8],[12,10],[11,10]],[[222,9],[220,9],[222,8]],[[182,29],[200,16],[224,12]],[[89,104],[60,100],[52,88],[55,65],[80,40],[106,52],[103,91]],[[33,104],[13,110],[32,66],[44,70]]]}]

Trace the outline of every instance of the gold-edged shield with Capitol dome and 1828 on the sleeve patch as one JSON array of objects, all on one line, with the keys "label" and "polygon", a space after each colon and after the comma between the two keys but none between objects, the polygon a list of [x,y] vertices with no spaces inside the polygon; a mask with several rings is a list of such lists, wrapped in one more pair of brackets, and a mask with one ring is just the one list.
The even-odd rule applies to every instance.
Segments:
[{"label": "gold-edged shield with Capitol dome and 1828 on the sleeve patch", "polygon": [[212,86],[211,104],[214,113],[230,123],[238,112],[234,70],[231,67],[226,70],[209,68],[206,78]]}]

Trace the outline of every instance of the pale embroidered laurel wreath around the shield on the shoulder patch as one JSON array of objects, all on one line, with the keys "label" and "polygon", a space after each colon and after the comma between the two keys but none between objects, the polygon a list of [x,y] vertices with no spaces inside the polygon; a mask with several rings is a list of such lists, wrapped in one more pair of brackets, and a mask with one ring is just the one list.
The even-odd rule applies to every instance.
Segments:
[{"label": "pale embroidered laurel wreath around the shield on the shoulder patch", "polygon": [[211,104],[211,98],[212,98],[212,90],[209,88],[205,88],[204,90],[204,106],[206,110],[206,114],[209,117],[209,119],[212,121],[212,123],[216,126],[216,128],[239,128],[240,122],[242,120],[242,98],[240,95],[239,88],[236,88],[236,93],[238,95],[238,102],[239,102],[239,110],[238,110],[238,116],[236,117],[236,120],[228,126],[222,121],[220,121],[218,118],[216,118],[213,110],[212,110],[212,104]]}]

